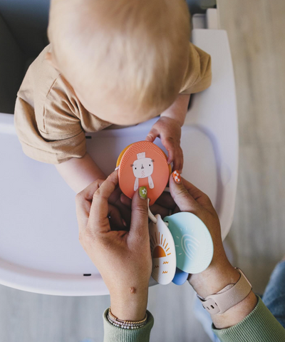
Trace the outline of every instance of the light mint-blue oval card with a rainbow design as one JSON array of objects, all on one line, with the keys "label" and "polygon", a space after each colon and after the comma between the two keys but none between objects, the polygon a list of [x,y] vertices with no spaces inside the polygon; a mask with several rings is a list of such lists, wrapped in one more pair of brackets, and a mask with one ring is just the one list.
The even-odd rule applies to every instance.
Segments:
[{"label": "light mint-blue oval card with a rainbow design", "polygon": [[177,267],[190,274],[201,273],[212,261],[211,234],[199,217],[191,212],[177,212],[163,219],[175,242]]}]

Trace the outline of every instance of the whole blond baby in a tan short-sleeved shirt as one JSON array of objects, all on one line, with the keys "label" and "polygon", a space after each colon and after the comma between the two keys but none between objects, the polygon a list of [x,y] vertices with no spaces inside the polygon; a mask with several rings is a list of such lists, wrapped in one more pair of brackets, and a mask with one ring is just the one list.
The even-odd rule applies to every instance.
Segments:
[{"label": "whole blond baby in a tan short-sleeved shirt", "polygon": [[105,178],[85,133],[160,115],[146,140],[159,137],[181,172],[190,94],[211,83],[210,56],[189,42],[185,0],[52,0],[48,38],[16,100],[26,155],[55,164],[80,192]]}]

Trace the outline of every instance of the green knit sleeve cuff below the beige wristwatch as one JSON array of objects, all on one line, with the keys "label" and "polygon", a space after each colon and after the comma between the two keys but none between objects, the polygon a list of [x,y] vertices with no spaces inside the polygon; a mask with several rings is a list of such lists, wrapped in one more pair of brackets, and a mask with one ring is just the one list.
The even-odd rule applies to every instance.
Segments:
[{"label": "green knit sleeve cuff below the beige wristwatch", "polygon": [[227,329],[212,329],[222,342],[284,342],[285,329],[257,296],[254,310],[241,322]]}]

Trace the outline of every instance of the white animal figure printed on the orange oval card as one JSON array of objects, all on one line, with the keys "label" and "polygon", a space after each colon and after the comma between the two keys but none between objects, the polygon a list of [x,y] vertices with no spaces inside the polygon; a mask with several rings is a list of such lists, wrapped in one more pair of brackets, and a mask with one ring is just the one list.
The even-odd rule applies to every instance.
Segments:
[{"label": "white animal figure printed on the orange oval card", "polygon": [[151,158],[145,157],[145,152],[138,153],[138,159],[133,162],[131,165],[133,167],[133,174],[135,175],[135,185],[134,191],[138,190],[138,180],[139,178],[148,178],[148,185],[150,189],[153,189],[155,185],[152,181],[152,172],[153,172],[153,162]]}]

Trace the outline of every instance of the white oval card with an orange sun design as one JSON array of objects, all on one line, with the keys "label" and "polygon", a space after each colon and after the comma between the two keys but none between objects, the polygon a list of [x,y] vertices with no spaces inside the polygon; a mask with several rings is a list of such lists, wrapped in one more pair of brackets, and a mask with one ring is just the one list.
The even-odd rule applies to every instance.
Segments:
[{"label": "white oval card with an orange sun design", "polygon": [[150,249],[152,254],[152,278],[162,285],[170,284],[176,271],[175,243],[160,215],[157,223],[150,222]]}]

